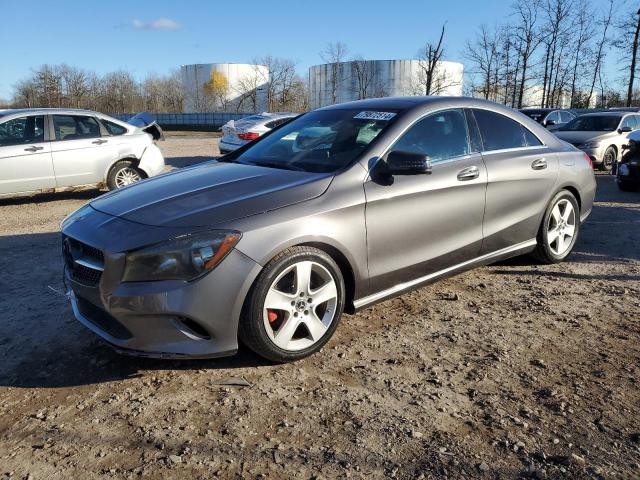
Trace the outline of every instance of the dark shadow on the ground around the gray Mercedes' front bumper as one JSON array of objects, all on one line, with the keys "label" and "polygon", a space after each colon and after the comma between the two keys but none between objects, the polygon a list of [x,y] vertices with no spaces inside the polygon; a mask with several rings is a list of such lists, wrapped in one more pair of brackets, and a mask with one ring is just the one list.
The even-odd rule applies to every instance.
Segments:
[{"label": "dark shadow on the ground around the gray Mercedes' front bumper", "polygon": [[[0,236],[0,387],[65,387],[135,378],[150,370],[270,365],[233,357],[156,360],[120,355],[73,318],[62,285],[59,233]],[[232,376],[228,373],[227,376]]]}]

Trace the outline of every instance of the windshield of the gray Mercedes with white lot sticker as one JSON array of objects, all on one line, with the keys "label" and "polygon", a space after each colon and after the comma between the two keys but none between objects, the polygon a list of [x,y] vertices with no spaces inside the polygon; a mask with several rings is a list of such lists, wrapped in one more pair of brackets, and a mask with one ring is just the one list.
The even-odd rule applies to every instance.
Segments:
[{"label": "windshield of the gray Mercedes with white lot sticker", "polygon": [[353,162],[389,124],[397,110],[318,110],[302,115],[229,161],[328,173]]}]

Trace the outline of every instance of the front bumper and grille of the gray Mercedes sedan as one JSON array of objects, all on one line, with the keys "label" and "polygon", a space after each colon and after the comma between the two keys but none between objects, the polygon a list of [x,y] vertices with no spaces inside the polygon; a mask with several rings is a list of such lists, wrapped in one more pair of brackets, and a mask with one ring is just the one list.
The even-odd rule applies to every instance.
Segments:
[{"label": "front bumper and grille of the gray Mercedes sedan", "polygon": [[[242,306],[262,268],[255,261],[234,249],[192,282],[123,283],[125,254],[120,252],[188,230],[142,225],[85,207],[63,222],[62,233],[64,276],[74,315],[117,350],[173,358],[237,350]],[[85,261],[76,258],[78,245]]]}]

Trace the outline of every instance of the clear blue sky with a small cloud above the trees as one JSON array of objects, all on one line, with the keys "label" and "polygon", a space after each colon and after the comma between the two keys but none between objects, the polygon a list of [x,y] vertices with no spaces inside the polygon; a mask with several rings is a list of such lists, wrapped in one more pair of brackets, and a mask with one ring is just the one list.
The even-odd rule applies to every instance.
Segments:
[{"label": "clear blue sky with a small cloud above the trees", "polygon": [[266,54],[322,63],[330,41],[370,59],[412,58],[447,22],[447,60],[465,41],[500,22],[510,0],[0,0],[0,99],[44,63],[137,78],[182,64],[250,62]]}]

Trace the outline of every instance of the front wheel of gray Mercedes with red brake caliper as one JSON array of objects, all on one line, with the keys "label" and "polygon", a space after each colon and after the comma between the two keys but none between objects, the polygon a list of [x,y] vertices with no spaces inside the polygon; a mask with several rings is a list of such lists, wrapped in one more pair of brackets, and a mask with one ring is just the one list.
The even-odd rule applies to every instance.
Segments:
[{"label": "front wheel of gray Mercedes with red brake caliper", "polygon": [[327,253],[288,248],[264,267],[250,290],[238,336],[268,360],[299,360],[329,341],[340,323],[344,298],[342,273]]}]

